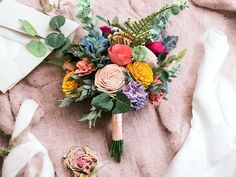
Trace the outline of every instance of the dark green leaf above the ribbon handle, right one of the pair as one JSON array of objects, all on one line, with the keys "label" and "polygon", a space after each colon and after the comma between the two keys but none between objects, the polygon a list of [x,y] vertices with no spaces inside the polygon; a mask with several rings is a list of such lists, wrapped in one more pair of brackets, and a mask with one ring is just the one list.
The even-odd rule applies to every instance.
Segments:
[{"label": "dark green leaf above the ribbon handle, right one of the pair", "polygon": [[129,98],[121,92],[116,93],[115,108],[112,114],[125,113],[130,110],[130,100]]}]

